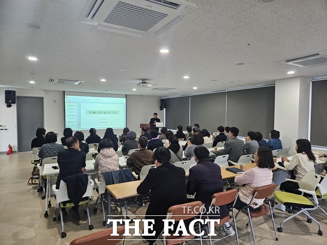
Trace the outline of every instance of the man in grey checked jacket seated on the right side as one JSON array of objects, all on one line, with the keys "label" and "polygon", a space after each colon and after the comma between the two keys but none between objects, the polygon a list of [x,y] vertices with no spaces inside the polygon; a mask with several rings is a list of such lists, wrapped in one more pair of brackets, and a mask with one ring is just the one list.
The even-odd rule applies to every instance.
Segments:
[{"label": "man in grey checked jacket seated on the right side", "polygon": [[244,151],[244,141],[238,139],[240,130],[231,127],[229,131],[229,140],[225,143],[224,149],[214,152],[216,155],[229,155],[228,160],[238,162]]}]

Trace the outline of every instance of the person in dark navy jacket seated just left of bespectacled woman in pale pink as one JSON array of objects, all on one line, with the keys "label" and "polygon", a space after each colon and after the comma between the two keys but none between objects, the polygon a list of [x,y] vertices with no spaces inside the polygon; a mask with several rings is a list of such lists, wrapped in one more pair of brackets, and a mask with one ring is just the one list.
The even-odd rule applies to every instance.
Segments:
[{"label": "person in dark navy jacket seated just left of bespectacled woman in pale pink", "polygon": [[[223,179],[221,176],[220,166],[208,160],[209,151],[203,146],[194,149],[194,160],[197,164],[190,168],[189,176],[186,176],[186,193],[193,195],[194,201],[204,203],[205,210],[209,210],[213,194],[224,191]],[[228,214],[226,205],[220,206],[219,209],[212,209],[209,216],[219,218]],[[217,211],[217,212],[215,212]],[[230,231],[232,231],[232,228]]]}]

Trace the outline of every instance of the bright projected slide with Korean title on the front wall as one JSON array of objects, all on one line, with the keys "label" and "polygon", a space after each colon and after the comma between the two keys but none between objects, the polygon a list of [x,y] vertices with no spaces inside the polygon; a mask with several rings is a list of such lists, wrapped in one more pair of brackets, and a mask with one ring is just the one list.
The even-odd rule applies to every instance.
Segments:
[{"label": "bright projected slide with Korean title on the front wall", "polygon": [[126,98],[65,95],[65,127],[73,130],[123,129]]}]

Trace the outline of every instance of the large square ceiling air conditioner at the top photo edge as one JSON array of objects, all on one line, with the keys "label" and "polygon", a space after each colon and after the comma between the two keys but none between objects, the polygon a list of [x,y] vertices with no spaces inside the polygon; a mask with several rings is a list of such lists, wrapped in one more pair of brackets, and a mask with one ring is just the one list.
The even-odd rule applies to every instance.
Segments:
[{"label": "large square ceiling air conditioner at the top photo edge", "polygon": [[197,8],[183,0],[89,0],[79,21],[111,32],[154,37]]}]

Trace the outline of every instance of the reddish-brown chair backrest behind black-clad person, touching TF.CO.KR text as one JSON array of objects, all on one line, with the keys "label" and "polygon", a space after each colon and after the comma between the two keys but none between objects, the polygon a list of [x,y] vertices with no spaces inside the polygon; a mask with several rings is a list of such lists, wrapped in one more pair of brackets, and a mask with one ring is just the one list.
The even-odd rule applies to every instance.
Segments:
[{"label": "reddish-brown chair backrest behind black-clad person, touching TF.CO.KR text", "polygon": [[195,217],[202,210],[202,205],[202,202],[196,201],[192,203],[184,203],[171,206],[167,211],[166,219],[174,219],[176,221],[179,221],[181,219]]}]

